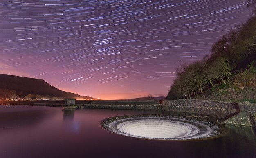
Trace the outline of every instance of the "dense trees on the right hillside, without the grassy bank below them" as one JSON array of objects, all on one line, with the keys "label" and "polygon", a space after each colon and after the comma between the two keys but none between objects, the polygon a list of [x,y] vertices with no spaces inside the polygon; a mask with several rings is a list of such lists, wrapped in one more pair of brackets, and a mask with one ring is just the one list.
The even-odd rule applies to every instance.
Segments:
[{"label": "dense trees on the right hillside, without the grassy bank below them", "polygon": [[[254,7],[256,13],[256,0],[248,2],[248,7]],[[256,61],[255,26],[256,16],[218,39],[212,45],[210,57],[179,66],[176,69],[177,77],[166,98],[191,99],[219,82],[226,84],[226,80],[231,79],[237,71],[246,69],[249,63]]]}]

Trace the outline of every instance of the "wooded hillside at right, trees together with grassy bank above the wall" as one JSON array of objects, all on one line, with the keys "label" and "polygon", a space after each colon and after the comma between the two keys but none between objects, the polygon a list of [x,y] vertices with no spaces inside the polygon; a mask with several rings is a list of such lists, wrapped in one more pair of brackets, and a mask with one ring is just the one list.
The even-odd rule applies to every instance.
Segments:
[{"label": "wooded hillside at right, trees together with grassy bank above the wall", "polygon": [[[252,2],[255,5],[255,1]],[[253,8],[254,5],[249,7]],[[230,96],[227,97],[228,94],[231,96],[233,94],[225,89],[231,89],[232,92],[239,91],[234,93],[236,96],[233,96],[234,98],[251,91],[252,95],[249,95],[249,99],[255,99],[255,77],[256,16],[253,16],[238,26],[238,29],[219,38],[212,45],[211,56],[205,56],[201,61],[189,65],[183,64],[177,68],[177,77],[166,99],[235,100]],[[216,93],[225,95],[225,98]]]}]

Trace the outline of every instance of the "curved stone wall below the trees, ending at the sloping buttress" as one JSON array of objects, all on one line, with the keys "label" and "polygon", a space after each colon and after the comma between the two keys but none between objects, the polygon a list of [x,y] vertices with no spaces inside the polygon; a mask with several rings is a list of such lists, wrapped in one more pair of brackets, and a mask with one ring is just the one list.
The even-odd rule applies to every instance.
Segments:
[{"label": "curved stone wall below the trees, ending at the sloping buttress", "polygon": [[239,107],[238,103],[234,102],[182,99],[163,100],[162,110],[227,118],[237,114]]}]

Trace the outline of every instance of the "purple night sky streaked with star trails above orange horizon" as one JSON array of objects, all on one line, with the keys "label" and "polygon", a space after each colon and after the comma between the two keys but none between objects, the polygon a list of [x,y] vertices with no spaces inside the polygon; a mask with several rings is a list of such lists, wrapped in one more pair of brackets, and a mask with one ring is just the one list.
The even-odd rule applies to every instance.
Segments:
[{"label": "purple night sky streaked with star trails above orange horizon", "polygon": [[246,0],[1,0],[0,73],[100,99],[166,96]]}]

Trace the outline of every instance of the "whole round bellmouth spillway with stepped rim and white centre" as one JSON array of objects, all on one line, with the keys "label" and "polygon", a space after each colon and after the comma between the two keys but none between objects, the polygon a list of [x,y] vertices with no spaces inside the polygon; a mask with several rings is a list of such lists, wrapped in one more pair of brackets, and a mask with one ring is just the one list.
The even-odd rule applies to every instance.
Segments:
[{"label": "whole round bellmouth spillway with stepped rim and white centre", "polygon": [[149,140],[205,140],[229,131],[207,120],[170,115],[115,116],[102,120],[100,126],[115,134]]}]

